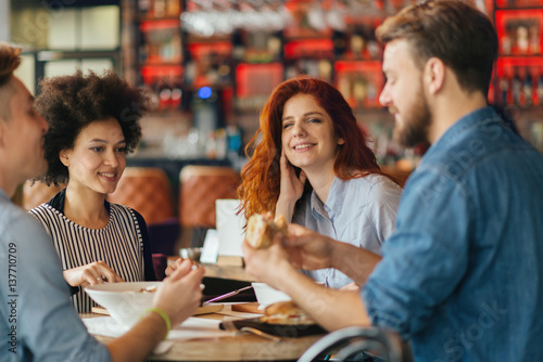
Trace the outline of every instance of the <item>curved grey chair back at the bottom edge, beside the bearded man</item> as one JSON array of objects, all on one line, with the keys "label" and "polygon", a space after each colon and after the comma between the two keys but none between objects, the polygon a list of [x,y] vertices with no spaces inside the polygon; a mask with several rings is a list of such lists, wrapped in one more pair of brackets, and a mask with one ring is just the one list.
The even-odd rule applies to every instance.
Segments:
[{"label": "curved grey chair back at the bottom edge, beside the bearded man", "polygon": [[353,326],[324,336],[311,346],[298,362],[327,361],[330,354],[333,354],[333,361],[346,361],[363,352],[378,358],[379,361],[414,361],[409,346],[403,342],[395,332]]}]

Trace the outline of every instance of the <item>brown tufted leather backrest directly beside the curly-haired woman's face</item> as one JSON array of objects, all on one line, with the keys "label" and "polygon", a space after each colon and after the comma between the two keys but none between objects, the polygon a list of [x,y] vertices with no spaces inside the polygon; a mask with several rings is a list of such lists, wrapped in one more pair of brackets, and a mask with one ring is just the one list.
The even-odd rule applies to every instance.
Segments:
[{"label": "brown tufted leather backrest directly beside the curly-haired woman's face", "polygon": [[131,207],[148,225],[174,218],[172,186],[160,168],[127,167],[108,201]]}]

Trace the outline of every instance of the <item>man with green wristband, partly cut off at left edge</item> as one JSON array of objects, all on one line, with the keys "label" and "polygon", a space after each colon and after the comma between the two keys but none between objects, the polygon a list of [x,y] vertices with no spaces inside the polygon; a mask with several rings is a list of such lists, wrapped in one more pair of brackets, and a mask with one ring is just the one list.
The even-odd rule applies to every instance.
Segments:
[{"label": "man with green wristband, partly cut off at left edge", "polygon": [[201,299],[203,268],[178,266],[156,290],[154,308],[106,346],[87,333],[43,228],[10,196],[47,169],[46,120],[13,75],[21,50],[0,43],[0,361],[143,361],[171,325],[190,316]]}]

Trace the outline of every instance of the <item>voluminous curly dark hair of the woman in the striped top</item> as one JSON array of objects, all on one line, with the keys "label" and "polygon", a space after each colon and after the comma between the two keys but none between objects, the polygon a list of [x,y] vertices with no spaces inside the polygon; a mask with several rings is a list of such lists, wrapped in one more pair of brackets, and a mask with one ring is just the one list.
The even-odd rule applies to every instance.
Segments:
[{"label": "voluminous curly dark hair of the woman in the striped top", "polygon": [[115,118],[125,137],[126,152],[134,152],[141,139],[139,120],[153,106],[149,93],[130,87],[114,72],[98,76],[78,70],[71,76],[42,79],[39,87],[35,107],[49,122],[45,138],[49,169],[36,180],[48,185],[68,181],[60,152],[73,148],[79,132],[92,121]]}]

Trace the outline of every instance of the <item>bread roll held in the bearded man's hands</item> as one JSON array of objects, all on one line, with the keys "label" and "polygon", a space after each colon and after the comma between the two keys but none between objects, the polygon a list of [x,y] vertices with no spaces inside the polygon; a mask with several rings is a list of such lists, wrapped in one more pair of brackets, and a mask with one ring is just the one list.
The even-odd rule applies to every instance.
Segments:
[{"label": "bread roll held in the bearded man's hands", "polygon": [[275,220],[272,214],[255,214],[249,218],[247,223],[245,240],[249,245],[256,249],[266,248],[272,245],[275,234],[278,232],[287,234],[287,221],[282,215]]}]

